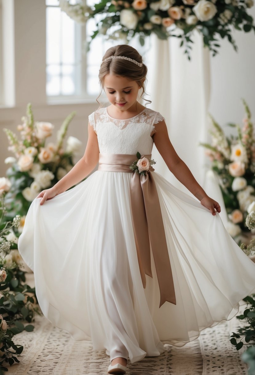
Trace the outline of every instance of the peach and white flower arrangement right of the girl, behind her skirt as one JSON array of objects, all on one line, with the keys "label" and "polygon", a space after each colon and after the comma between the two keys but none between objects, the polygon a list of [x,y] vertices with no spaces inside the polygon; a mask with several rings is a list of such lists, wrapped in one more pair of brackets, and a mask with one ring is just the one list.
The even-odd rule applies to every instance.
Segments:
[{"label": "peach and white flower arrangement right of the girl, behind her skirt", "polygon": [[249,213],[255,210],[255,138],[251,112],[245,100],[246,116],[243,127],[236,127],[237,136],[227,137],[218,123],[211,117],[212,144],[200,143],[206,148],[206,154],[211,160],[211,168],[216,172],[221,188],[224,204],[230,221],[227,230],[232,237],[242,231],[249,230]]}]

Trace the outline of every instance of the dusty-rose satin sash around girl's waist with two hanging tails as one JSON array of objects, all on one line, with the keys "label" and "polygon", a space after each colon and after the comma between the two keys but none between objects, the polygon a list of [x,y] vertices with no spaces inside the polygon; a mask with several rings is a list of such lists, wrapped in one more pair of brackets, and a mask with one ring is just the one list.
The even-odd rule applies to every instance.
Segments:
[{"label": "dusty-rose satin sash around girl's waist with two hanging tails", "polygon": [[[141,155],[141,159],[151,154]],[[133,172],[130,186],[132,225],[142,285],[146,287],[145,274],[152,277],[150,245],[153,253],[160,290],[160,304],[166,301],[176,305],[172,269],[166,243],[159,196],[150,166],[146,174],[138,174],[129,168],[137,160],[133,154],[99,153],[98,171]]]}]

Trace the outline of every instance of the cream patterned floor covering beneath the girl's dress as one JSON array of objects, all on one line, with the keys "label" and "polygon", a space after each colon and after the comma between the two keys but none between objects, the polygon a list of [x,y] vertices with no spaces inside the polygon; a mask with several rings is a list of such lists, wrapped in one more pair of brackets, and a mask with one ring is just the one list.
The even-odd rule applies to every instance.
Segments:
[{"label": "cream patterned floor covering beneath the girl's dress", "polygon": [[[239,314],[245,306],[240,306]],[[222,321],[182,348],[164,343],[161,356],[145,357],[133,365],[128,361],[126,375],[247,375],[247,365],[240,358],[245,348],[236,351],[229,341],[240,324],[235,317]],[[24,346],[24,357],[19,364],[7,365],[8,374],[107,375],[110,357],[105,351],[93,351],[90,342],[74,341],[44,317],[36,316],[34,326],[34,332],[14,336],[15,344]]]}]

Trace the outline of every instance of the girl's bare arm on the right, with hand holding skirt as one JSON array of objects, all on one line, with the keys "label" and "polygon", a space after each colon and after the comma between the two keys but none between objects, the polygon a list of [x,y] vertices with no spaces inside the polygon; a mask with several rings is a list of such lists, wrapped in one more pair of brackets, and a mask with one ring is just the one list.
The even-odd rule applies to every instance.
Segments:
[{"label": "girl's bare arm on the right, with hand holding skirt", "polygon": [[164,120],[160,121],[155,126],[155,133],[152,138],[163,157],[168,169],[175,175],[175,177],[185,186],[190,192],[199,199],[200,203],[209,208],[211,213],[215,215],[216,211],[221,212],[218,202],[210,198],[202,186],[199,185],[188,166],[178,156],[168,136],[168,130]]}]

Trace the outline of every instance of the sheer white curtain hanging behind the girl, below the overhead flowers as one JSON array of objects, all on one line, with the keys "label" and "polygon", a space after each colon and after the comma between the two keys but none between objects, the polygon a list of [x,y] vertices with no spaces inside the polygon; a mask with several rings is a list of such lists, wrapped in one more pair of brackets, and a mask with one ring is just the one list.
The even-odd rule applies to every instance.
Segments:
[{"label": "sheer white curtain hanging behind the girl, below the overhead flowers", "polygon": [[[202,36],[191,37],[191,60],[180,47],[180,38],[160,40],[150,37],[150,49],[145,56],[148,66],[146,92],[150,94],[150,108],[165,118],[170,141],[178,155],[188,165],[196,180],[203,186],[207,162],[205,150],[199,142],[208,141],[211,76],[208,49],[203,48]],[[169,171],[162,156],[153,146],[155,170],[174,186],[192,195]]]}]

